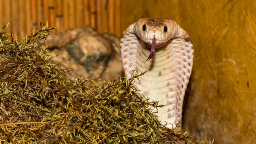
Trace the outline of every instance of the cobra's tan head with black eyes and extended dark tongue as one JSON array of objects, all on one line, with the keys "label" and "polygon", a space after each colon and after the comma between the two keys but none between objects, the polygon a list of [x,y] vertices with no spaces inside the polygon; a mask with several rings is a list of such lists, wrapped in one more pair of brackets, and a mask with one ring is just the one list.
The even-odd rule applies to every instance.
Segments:
[{"label": "cobra's tan head with black eyes and extended dark tongue", "polygon": [[163,47],[167,41],[177,36],[179,26],[175,21],[157,18],[142,18],[134,23],[135,33],[143,47],[151,47],[146,61],[153,58],[155,49]]}]

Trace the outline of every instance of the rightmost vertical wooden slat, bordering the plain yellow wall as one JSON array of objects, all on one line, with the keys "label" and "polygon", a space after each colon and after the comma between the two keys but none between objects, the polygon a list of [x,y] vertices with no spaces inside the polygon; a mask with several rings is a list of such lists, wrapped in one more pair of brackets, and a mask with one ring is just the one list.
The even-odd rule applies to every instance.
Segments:
[{"label": "rightmost vertical wooden slat, bordering the plain yellow wall", "polygon": [[121,36],[122,34],[121,34],[121,23],[120,23],[120,0],[115,0],[115,12],[114,12],[114,14],[115,14],[115,35],[117,35],[117,36]]}]

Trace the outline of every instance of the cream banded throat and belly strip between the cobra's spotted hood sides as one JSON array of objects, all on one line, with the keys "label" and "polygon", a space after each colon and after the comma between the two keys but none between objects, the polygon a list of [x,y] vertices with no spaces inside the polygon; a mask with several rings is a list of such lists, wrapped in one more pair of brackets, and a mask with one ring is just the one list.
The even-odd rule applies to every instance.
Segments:
[{"label": "cream banded throat and belly strip between the cobra's spotted hood sides", "polygon": [[[135,80],[137,89],[142,90],[145,97],[150,101],[154,100],[159,104],[166,105],[163,108],[158,109],[156,114],[161,120],[176,125],[176,117],[180,117],[177,110],[177,79],[175,73],[175,56],[171,47],[171,41],[168,41],[166,45],[155,50],[154,57],[146,61],[147,56],[150,53],[150,49],[138,45],[137,47],[137,59],[136,69],[139,72],[146,71],[147,73],[140,77],[139,80]],[[145,62],[146,61],[146,62]],[[153,112],[157,110],[152,108]],[[169,125],[170,126],[170,125]]]}]

